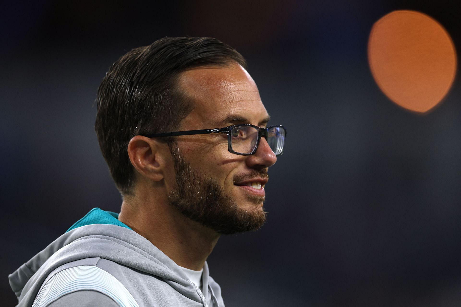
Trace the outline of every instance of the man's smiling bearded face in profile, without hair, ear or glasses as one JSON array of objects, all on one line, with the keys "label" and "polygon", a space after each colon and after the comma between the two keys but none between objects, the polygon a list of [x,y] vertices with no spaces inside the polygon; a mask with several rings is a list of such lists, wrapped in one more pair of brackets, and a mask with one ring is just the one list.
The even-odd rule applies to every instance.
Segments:
[{"label": "man's smiling bearded face in profile, without hair, ear or glasses", "polygon": [[[256,84],[240,65],[188,70],[179,85],[194,102],[179,131],[239,123],[266,127],[269,116]],[[225,133],[179,136],[171,152],[170,200],[183,214],[219,233],[262,226],[267,168],[277,160],[264,138],[251,156],[230,153]]]}]

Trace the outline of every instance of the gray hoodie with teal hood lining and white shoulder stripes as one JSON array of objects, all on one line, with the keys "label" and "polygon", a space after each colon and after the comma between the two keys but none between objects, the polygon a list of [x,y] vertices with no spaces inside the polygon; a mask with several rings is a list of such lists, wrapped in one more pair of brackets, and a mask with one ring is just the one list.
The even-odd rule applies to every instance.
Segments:
[{"label": "gray hoodie with teal hood lining and white shoulder stripes", "polygon": [[18,307],[224,307],[205,262],[202,290],[146,238],[91,210],[9,276]]}]

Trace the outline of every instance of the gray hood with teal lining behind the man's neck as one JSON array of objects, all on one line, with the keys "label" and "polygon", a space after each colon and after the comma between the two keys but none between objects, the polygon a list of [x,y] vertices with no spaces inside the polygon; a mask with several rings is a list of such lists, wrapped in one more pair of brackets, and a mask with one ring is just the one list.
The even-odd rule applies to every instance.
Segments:
[{"label": "gray hood with teal lining behind the man's neck", "polygon": [[[18,306],[31,306],[47,276],[68,262],[100,257],[158,276],[186,297],[202,302],[195,286],[183,270],[148,239],[118,219],[118,214],[92,209],[65,234],[9,275]],[[207,263],[202,275],[203,294],[207,295]],[[206,297],[206,296],[205,296]]]}]

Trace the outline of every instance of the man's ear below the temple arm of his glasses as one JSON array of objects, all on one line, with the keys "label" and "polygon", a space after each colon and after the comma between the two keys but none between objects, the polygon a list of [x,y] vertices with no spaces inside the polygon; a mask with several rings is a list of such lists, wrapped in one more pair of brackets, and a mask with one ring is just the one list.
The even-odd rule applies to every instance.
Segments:
[{"label": "man's ear below the temple arm of his glasses", "polygon": [[144,177],[154,181],[164,178],[164,161],[160,155],[160,143],[156,140],[136,135],[128,143],[128,156],[134,168]]}]

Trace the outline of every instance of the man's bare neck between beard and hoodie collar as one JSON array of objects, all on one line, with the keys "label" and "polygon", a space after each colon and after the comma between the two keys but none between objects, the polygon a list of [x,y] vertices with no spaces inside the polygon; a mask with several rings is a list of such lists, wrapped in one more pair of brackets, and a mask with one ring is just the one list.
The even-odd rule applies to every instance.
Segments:
[{"label": "man's bare neck between beard and hoodie collar", "polygon": [[136,196],[124,197],[118,220],[148,239],[178,266],[195,271],[202,269],[219,239],[218,233],[181,214],[167,197],[159,199],[138,191]]}]

